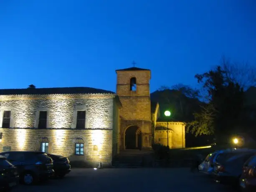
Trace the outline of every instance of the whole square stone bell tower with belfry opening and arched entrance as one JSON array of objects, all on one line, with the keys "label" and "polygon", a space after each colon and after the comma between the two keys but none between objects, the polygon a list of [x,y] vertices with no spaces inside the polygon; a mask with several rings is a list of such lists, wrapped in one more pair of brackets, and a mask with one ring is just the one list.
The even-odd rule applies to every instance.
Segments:
[{"label": "whole square stone bell tower with belfry opening and arched entrance", "polygon": [[150,78],[143,68],[116,70],[120,109],[120,149],[151,148]]}]

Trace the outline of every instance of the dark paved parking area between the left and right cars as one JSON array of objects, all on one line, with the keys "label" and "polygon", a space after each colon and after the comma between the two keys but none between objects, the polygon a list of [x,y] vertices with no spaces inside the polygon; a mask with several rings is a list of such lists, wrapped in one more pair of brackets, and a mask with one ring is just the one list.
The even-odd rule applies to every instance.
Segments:
[{"label": "dark paved parking area between the left and right cars", "polygon": [[20,185],[13,192],[231,192],[189,169],[73,169],[64,179],[36,186]]}]

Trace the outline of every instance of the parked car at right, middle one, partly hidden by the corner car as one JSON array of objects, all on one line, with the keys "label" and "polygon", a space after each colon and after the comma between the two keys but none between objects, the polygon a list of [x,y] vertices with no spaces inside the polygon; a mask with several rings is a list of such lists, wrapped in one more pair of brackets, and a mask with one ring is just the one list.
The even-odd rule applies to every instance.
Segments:
[{"label": "parked car at right, middle one, partly hidden by the corner car", "polygon": [[215,181],[223,184],[239,184],[243,164],[255,153],[255,149],[245,149],[220,155],[214,165],[213,176]]}]

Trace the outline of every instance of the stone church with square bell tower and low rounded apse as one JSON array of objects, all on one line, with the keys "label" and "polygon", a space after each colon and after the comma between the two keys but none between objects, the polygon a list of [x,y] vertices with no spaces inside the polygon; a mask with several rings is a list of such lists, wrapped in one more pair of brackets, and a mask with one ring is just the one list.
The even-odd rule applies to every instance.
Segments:
[{"label": "stone church with square bell tower and low rounded apse", "polygon": [[[151,71],[132,67],[116,73],[117,95],[122,103],[120,150],[150,149],[152,141],[167,146],[167,121],[160,119],[161,106],[150,101]],[[185,147],[185,124],[169,122],[168,125],[169,147]]]}]

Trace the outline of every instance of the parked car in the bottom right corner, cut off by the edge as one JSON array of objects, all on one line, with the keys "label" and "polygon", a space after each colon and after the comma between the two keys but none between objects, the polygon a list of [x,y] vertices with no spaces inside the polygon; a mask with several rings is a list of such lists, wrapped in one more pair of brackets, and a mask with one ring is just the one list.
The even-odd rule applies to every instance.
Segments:
[{"label": "parked car in the bottom right corner, cut off by the edge", "polygon": [[256,155],[253,155],[243,164],[243,171],[240,177],[241,191],[256,191]]}]

